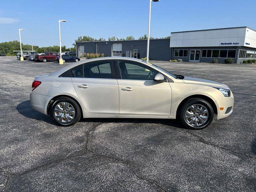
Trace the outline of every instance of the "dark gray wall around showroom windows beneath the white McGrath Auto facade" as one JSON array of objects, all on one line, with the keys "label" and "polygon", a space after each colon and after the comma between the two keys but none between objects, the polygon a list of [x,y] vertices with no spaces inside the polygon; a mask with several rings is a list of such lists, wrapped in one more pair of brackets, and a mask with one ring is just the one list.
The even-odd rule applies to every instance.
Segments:
[{"label": "dark gray wall around showroom windows beneath the white McGrath Auto facade", "polygon": [[[174,56],[174,50],[179,50],[179,49],[186,49],[188,50],[188,57],[175,57]],[[236,58],[233,58],[235,63],[238,63],[238,47],[236,46],[231,46],[231,47],[179,47],[179,48],[172,48],[172,60],[176,59],[182,59],[185,62],[189,62],[189,57],[190,57],[190,50],[200,50],[200,62],[206,62],[206,63],[211,63],[213,59],[217,59],[218,63],[224,63],[224,60],[226,58],[202,58],[202,50],[226,50],[226,49],[232,49],[236,50]],[[239,62],[240,63],[240,62]]]}]

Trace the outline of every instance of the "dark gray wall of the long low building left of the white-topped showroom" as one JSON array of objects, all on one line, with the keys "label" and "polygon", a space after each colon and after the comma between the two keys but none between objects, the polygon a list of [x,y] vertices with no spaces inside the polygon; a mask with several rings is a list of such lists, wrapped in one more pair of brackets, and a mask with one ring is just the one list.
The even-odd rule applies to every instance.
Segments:
[{"label": "dark gray wall of the long low building left of the white-topped showroom", "polygon": [[[103,41],[97,42],[97,52],[104,53],[104,56],[112,55],[112,44],[122,43],[122,55],[126,56],[126,50],[140,50],[140,58],[146,57],[147,40],[129,40],[129,41]],[[96,53],[96,42],[77,42],[78,46],[84,45],[85,53]],[[150,40],[149,49],[150,60],[170,60],[170,39]]]}]

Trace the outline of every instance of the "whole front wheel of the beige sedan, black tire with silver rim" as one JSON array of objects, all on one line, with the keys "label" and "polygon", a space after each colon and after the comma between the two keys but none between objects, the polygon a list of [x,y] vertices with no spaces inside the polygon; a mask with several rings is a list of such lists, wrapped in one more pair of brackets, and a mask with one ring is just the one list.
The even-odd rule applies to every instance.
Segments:
[{"label": "whole front wheel of the beige sedan, black tire with silver rim", "polygon": [[201,98],[190,98],[180,108],[178,118],[189,129],[206,128],[212,122],[214,111],[211,104]]}]

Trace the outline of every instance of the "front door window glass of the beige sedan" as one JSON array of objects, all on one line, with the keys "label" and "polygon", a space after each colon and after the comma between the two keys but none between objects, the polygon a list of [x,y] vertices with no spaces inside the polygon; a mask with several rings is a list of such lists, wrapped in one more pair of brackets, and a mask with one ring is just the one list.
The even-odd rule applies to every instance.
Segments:
[{"label": "front door window glass of the beige sedan", "polygon": [[158,71],[140,63],[118,61],[122,79],[154,80]]}]

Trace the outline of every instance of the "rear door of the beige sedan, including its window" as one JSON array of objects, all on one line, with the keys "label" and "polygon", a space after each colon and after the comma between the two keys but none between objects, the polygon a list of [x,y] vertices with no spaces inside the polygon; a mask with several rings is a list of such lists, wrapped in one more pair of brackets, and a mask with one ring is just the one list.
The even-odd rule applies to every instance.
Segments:
[{"label": "rear door of the beige sedan, including its window", "polygon": [[113,60],[71,69],[72,84],[89,114],[119,114],[119,93]]}]

